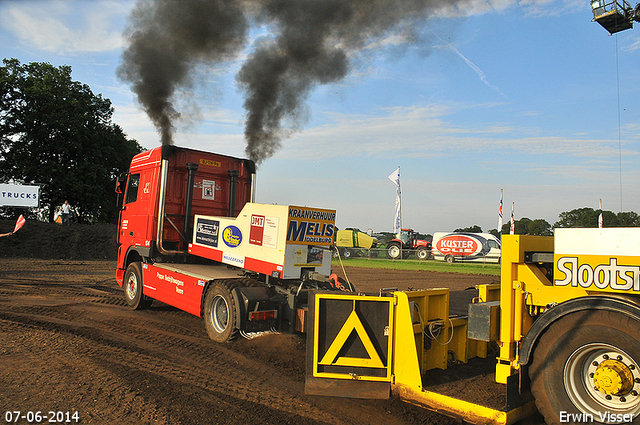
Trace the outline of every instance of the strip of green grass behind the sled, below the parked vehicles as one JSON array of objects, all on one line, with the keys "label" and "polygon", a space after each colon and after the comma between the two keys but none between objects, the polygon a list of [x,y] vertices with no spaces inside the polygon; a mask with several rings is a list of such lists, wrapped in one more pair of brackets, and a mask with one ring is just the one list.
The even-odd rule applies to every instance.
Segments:
[{"label": "strip of green grass behind the sled, below the parked vehicles", "polygon": [[[387,259],[368,259],[368,258],[349,258],[343,259],[345,266],[352,267],[371,267],[380,269],[395,270],[428,270],[443,273],[470,273],[470,274],[488,274],[500,276],[499,264],[481,264],[481,263],[453,263],[448,264],[443,261],[419,261],[419,260],[387,260]],[[332,265],[339,266],[340,260],[333,259]]]}]

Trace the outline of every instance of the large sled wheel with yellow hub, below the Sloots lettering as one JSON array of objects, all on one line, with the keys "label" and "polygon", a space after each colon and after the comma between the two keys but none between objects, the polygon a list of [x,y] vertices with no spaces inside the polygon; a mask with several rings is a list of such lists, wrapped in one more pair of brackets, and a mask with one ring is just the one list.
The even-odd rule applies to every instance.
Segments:
[{"label": "large sled wheel with yellow hub, below the Sloots lettering", "polygon": [[[635,419],[640,414],[640,318],[586,310],[559,319],[540,337],[529,376],[538,410],[549,424],[573,422],[569,414],[606,423]],[[611,416],[603,419],[607,413]]]}]

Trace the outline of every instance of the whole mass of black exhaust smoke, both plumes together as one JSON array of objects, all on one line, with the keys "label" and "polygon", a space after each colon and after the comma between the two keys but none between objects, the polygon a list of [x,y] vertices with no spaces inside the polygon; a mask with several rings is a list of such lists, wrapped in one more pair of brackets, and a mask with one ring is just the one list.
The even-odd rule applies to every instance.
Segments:
[{"label": "whole mass of black exhaust smoke, both plumes together", "polygon": [[354,57],[390,34],[396,44],[415,43],[430,16],[458,7],[435,0],[140,0],[118,75],[132,84],[162,142],[171,143],[177,90],[190,86],[195,67],[237,57],[250,24],[267,29],[236,76],[245,96],[245,151],[260,163],[301,129],[314,87],[341,81]]}]

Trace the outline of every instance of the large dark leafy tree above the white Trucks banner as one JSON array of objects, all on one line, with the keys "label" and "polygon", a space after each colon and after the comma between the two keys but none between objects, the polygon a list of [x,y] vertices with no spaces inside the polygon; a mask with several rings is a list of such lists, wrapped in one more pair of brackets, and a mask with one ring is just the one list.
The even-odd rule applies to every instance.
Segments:
[{"label": "large dark leafy tree above the white Trucks banner", "polygon": [[0,67],[0,181],[41,186],[53,221],[65,200],[81,221],[115,219],[114,179],[142,149],[111,122],[111,101],[71,79],[71,67]]}]

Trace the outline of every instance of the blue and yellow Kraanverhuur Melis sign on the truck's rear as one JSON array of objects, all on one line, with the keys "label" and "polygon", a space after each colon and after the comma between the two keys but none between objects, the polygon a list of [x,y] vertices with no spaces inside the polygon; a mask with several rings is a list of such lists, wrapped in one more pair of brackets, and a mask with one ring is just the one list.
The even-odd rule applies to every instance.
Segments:
[{"label": "blue and yellow Kraanverhuur Melis sign on the truck's rear", "polygon": [[336,212],[333,210],[289,207],[287,243],[330,246],[335,222]]}]

